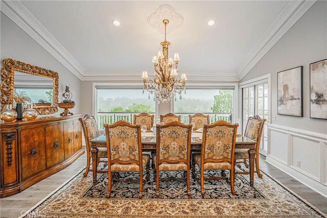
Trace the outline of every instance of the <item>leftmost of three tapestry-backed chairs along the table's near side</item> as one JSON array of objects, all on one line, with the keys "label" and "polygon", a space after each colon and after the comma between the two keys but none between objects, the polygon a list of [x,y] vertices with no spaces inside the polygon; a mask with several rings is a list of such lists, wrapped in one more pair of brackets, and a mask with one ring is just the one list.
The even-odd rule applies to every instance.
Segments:
[{"label": "leftmost of three tapestry-backed chairs along the table's near side", "polygon": [[[114,124],[104,125],[108,150],[108,190],[110,198],[112,181],[138,182],[138,198],[142,199],[143,183],[149,180],[149,154],[142,154],[141,125],[130,124],[119,120]],[[143,180],[143,170],[146,168],[146,179]],[[119,172],[137,172],[138,179],[121,179]]]}]

